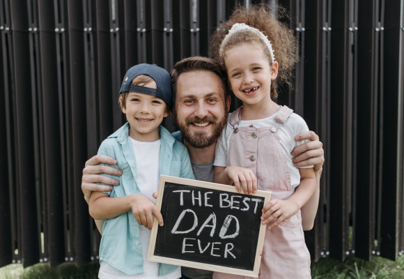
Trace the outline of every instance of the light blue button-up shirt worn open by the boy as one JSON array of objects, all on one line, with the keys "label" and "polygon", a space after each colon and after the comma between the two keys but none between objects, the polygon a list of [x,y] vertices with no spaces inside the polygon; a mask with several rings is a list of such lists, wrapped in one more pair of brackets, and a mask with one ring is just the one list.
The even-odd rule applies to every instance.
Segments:
[{"label": "light blue button-up shirt worn open by the boy", "polygon": [[[117,164],[110,167],[116,167],[123,172],[122,176],[111,176],[119,180],[120,186],[107,192],[110,197],[141,194],[136,183],[136,158],[129,137],[129,128],[129,123],[125,123],[104,140],[98,149],[98,154],[116,159]],[[159,132],[160,174],[194,179],[185,146],[176,141],[163,126],[159,126]],[[105,221],[100,243],[100,261],[108,262],[127,274],[143,273],[139,224],[132,211]],[[171,264],[160,264],[159,275],[169,274],[176,268],[177,266]]]}]

